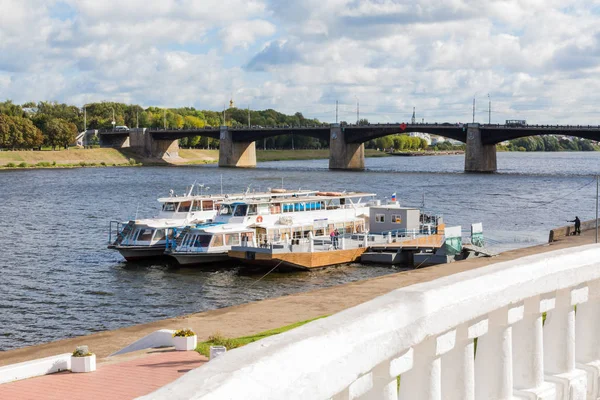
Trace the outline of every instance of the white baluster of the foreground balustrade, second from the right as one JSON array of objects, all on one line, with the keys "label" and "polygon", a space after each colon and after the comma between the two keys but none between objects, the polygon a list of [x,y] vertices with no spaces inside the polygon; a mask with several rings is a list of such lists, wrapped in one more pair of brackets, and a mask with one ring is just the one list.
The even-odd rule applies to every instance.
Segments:
[{"label": "white baluster of the foreground balustrade, second from the right", "polygon": [[554,309],[544,324],[544,373],[557,385],[557,398],[584,399],[587,374],[575,369],[575,308],[573,289],[556,291]]}]

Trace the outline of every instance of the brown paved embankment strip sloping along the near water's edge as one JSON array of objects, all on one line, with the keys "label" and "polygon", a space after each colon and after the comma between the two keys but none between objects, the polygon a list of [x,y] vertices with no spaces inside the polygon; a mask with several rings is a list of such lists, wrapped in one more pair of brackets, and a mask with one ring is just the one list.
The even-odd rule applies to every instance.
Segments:
[{"label": "brown paved embankment strip sloping along the near water's edge", "polygon": [[[551,243],[507,251],[493,258],[477,258],[409,270],[312,292],[297,293],[114,331],[9,350],[2,353],[0,366],[71,352],[76,346],[83,344],[88,345],[90,350],[97,354],[99,363],[110,362],[111,359],[107,358],[109,354],[158,329],[190,327],[198,333],[199,341],[206,340],[208,336],[216,332],[226,337],[256,334],[298,321],[334,314],[400,287],[431,281],[443,276],[528,255],[591,244],[594,241],[595,232],[593,230],[583,231],[580,236],[556,235]],[[110,318],[110,316],[107,316],[107,318]]]}]

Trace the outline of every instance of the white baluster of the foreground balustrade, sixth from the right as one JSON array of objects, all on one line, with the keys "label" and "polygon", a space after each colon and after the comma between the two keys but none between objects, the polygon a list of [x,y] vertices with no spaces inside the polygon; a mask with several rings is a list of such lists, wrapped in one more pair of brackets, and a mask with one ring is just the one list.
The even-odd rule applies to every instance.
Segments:
[{"label": "white baluster of the foreground balustrade, sixth from the right", "polygon": [[401,400],[442,400],[442,368],[436,347],[435,338],[414,347],[413,367],[400,377]]}]

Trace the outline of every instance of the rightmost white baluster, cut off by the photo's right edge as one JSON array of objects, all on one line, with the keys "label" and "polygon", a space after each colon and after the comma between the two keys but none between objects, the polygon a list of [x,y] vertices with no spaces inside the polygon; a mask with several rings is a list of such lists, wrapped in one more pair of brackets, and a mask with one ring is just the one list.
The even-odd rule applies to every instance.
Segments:
[{"label": "rightmost white baluster, cut off by the photo's right edge", "polygon": [[575,314],[575,361],[588,375],[587,398],[600,397],[600,281],[588,284],[588,301]]}]

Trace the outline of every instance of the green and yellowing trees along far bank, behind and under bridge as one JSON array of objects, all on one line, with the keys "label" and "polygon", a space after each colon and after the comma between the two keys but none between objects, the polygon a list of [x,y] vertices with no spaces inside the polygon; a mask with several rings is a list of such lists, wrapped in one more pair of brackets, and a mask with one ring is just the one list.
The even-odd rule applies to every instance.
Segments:
[{"label": "green and yellowing trees along far bank, behind and under bridge", "polygon": [[[223,124],[232,127],[324,125],[318,119],[305,118],[300,112],[286,115],[273,109],[248,110],[230,107],[218,112],[197,110],[193,107],[143,108],[136,104],[116,102],[90,103],[84,107],[45,101],[18,105],[7,100],[0,102],[0,148],[39,149],[42,146],[66,148],[73,145],[78,132],[83,132],[86,128],[112,129],[115,125],[125,125],[130,128],[201,129],[218,127]],[[368,124],[369,121],[366,119],[359,121],[359,125]],[[342,121],[341,125],[344,126],[347,123]],[[198,135],[181,139],[180,145],[189,148],[218,148],[219,140]],[[327,140],[298,135],[281,135],[257,142],[258,148],[267,149],[319,149],[328,146]],[[370,140],[365,143],[365,147],[405,151],[428,147],[449,150],[461,146],[452,146],[449,143],[428,146],[424,139],[396,134]],[[514,139],[508,145],[498,145],[498,147],[507,151],[599,150],[597,144],[587,139],[558,138],[556,136]]]}]

